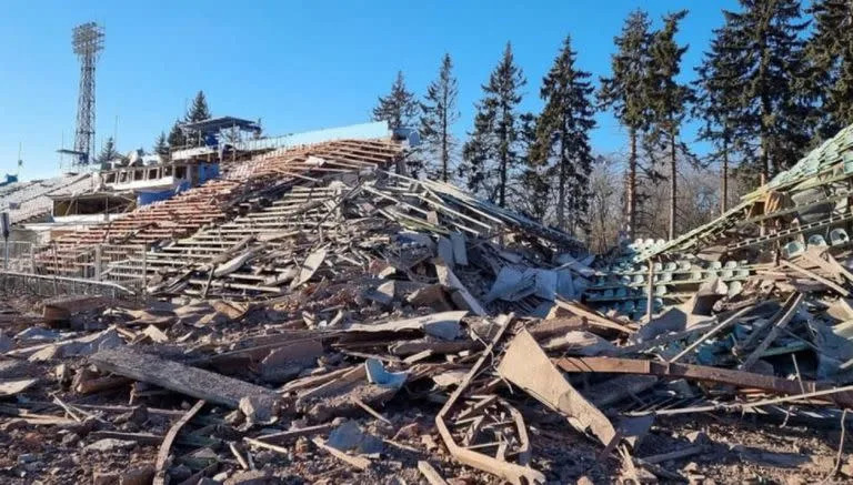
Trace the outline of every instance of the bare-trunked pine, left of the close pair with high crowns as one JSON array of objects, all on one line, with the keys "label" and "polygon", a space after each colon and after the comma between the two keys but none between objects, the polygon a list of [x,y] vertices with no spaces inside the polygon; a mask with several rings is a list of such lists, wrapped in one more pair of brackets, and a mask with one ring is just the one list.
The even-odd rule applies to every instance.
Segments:
[{"label": "bare-trunked pine, left of the close pair with high crowns", "polygon": [[638,137],[649,120],[649,14],[635,10],[629,14],[621,36],[613,39],[618,52],[613,54],[611,78],[601,79],[599,100],[604,108],[613,108],[616,119],[628,128],[630,153],[625,188],[625,221],[628,236],[636,230],[636,172]]}]

